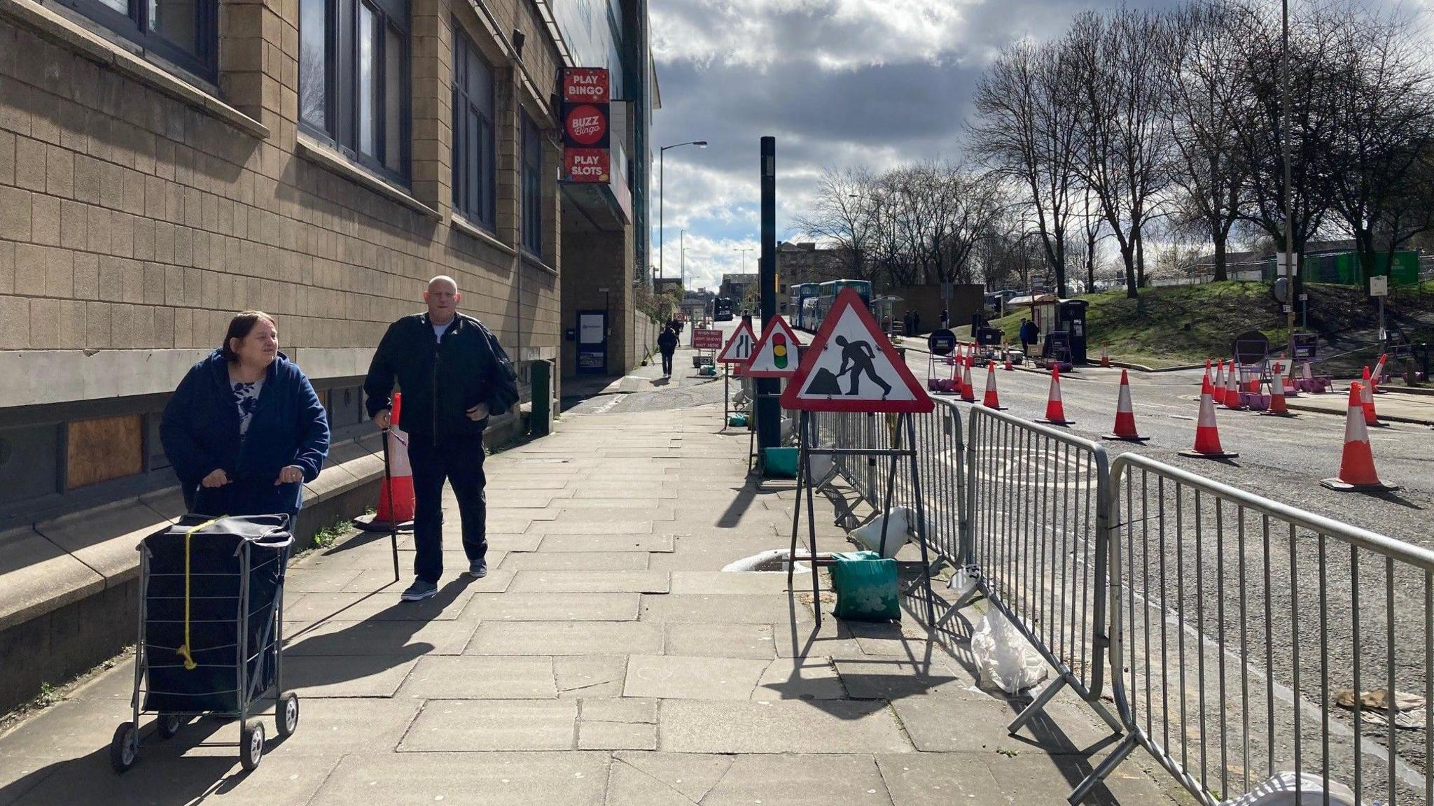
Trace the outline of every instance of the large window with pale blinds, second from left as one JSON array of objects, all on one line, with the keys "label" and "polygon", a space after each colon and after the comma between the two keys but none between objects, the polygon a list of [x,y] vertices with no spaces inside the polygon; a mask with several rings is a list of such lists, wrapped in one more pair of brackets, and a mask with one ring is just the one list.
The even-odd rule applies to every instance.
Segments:
[{"label": "large window with pale blinds, second from left", "polygon": [[300,0],[298,39],[300,126],[407,182],[407,0]]}]

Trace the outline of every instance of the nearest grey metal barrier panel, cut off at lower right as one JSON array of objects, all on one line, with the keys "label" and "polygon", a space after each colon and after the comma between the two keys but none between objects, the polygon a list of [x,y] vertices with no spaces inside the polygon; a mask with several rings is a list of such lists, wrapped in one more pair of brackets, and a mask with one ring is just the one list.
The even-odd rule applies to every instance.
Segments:
[{"label": "nearest grey metal barrier panel, cut off at lower right", "polygon": [[1355,803],[1434,803],[1434,552],[1133,453],[1110,472],[1130,734],[1096,777],[1139,744],[1207,805],[1285,772]]}]

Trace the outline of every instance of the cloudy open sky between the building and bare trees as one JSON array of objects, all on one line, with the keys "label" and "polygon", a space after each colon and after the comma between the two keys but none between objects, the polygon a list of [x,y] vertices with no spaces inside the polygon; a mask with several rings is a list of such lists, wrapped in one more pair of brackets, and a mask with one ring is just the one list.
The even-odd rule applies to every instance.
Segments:
[{"label": "cloudy open sky between the building and bare trees", "polygon": [[[823,166],[959,156],[972,86],[995,52],[1025,36],[1053,37],[1098,4],[650,0],[663,92],[654,146],[711,143],[667,152],[664,274],[678,274],[683,229],[695,278],[688,287],[740,271],[743,247],[754,248],[746,268],[756,271],[763,135],[777,138],[777,238],[794,238],[790,218]],[[657,241],[654,215],[654,261]]]}]

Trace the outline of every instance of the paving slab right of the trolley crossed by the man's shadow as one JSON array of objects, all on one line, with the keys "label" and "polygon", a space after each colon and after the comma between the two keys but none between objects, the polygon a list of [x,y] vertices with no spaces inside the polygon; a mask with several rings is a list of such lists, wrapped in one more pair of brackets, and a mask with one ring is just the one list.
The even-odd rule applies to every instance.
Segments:
[{"label": "paving slab right of the trolley crossed by the man's shadow", "polygon": [[284,654],[294,655],[457,655],[473,621],[315,621],[284,622]]}]

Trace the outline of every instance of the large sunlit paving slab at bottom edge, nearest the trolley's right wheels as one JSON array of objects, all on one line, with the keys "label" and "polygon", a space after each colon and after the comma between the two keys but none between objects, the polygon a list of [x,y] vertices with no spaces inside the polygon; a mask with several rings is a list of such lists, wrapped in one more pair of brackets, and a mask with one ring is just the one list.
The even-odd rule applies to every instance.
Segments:
[{"label": "large sunlit paving slab at bottom edge, nearest the trolley's right wheels", "polygon": [[601,806],[607,769],[608,753],[354,754],[313,806]]}]

